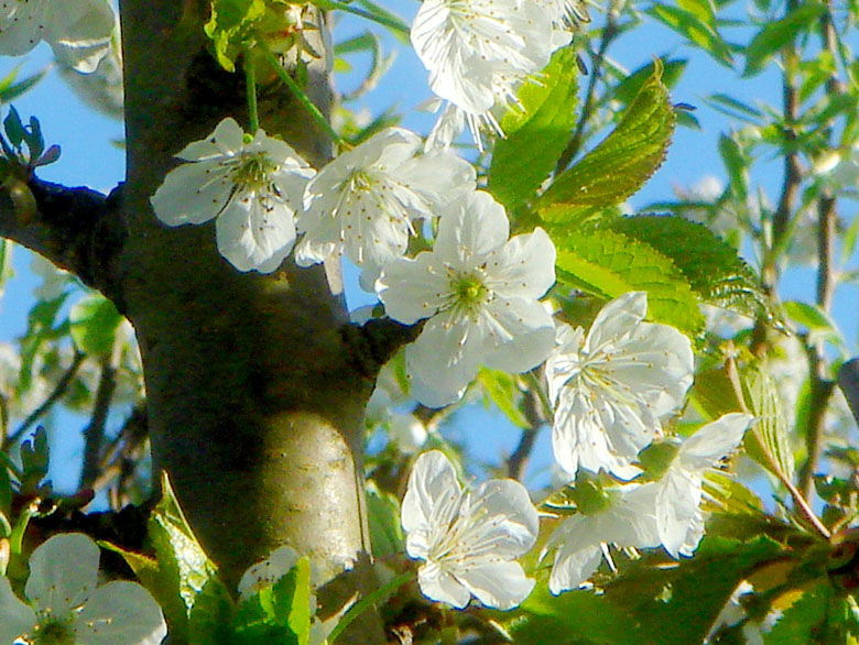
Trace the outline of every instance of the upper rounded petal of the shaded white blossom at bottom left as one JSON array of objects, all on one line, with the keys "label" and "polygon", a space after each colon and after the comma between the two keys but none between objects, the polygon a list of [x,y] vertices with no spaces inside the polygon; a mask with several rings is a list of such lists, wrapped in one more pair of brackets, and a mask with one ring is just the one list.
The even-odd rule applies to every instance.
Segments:
[{"label": "upper rounded petal of the shaded white blossom at bottom left", "polygon": [[98,583],[99,551],[81,533],[55,535],[30,556],[24,592],[41,611],[65,617]]}]

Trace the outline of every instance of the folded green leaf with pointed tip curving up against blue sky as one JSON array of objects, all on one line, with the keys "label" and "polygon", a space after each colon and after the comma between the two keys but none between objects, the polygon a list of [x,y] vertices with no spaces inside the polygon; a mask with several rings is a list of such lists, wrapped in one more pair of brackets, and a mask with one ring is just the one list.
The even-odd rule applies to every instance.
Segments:
[{"label": "folded green leaf with pointed tip curving up against blue sky", "polygon": [[[615,131],[558,175],[537,200],[541,217],[550,223],[563,223],[576,211],[591,212],[623,201],[662,165],[674,122],[662,63],[656,62],[653,75]],[[558,205],[567,207],[563,219],[557,218]]]}]

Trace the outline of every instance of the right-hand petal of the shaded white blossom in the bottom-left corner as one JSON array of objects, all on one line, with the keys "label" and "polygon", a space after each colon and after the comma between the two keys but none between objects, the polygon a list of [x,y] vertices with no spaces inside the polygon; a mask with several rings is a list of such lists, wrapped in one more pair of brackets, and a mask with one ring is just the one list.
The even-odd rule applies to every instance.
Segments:
[{"label": "right-hand petal of the shaded white blossom in the bottom-left corner", "polygon": [[80,645],[159,645],[167,635],[155,599],[140,584],[122,580],[89,595],[74,630]]}]

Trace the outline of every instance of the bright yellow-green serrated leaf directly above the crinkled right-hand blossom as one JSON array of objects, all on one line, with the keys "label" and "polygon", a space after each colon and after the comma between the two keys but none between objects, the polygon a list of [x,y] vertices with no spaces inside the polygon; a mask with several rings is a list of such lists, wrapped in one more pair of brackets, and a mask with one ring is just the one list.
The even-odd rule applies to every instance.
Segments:
[{"label": "bright yellow-green serrated leaf directly above the crinkled right-hand blossom", "polygon": [[611,230],[578,231],[557,247],[557,278],[604,297],[648,292],[648,315],[691,336],[704,329],[704,316],[688,282],[674,263],[634,238]]}]

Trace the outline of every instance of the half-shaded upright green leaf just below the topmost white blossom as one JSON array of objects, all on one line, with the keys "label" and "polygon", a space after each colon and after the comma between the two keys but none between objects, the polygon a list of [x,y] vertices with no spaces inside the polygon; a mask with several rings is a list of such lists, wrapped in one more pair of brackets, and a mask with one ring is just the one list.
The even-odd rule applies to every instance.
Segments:
[{"label": "half-shaded upright green leaf just below the topmost white blossom", "polygon": [[489,190],[509,209],[531,199],[564,152],[576,124],[576,53],[555,52],[540,75],[525,83],[519,103],[501,119],[504,139],[496,142]]}]

